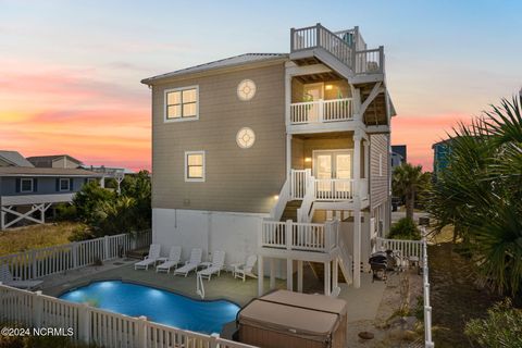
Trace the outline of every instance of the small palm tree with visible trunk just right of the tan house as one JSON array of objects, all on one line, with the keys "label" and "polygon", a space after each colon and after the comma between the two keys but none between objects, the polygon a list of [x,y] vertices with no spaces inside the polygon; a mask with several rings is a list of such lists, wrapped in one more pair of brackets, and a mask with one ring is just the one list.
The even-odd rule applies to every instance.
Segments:
[{"label": "small palm tree with visible trunk just right of the tan house", "polygon": [[422,173],[421,165],[402,163],[394,170],[391,190],[394,196],[406,200],[406,217],[413,220],[415,196],[427,184],[428,174]]}]

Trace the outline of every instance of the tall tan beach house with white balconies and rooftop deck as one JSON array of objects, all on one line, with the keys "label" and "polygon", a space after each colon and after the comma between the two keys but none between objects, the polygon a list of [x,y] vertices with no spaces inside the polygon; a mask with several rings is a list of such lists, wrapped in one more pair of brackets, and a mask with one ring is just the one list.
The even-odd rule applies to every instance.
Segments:
[{"label": "tall tan beach house with white balconies and rooftop deck", "polygon": [[277,275],[294,289],[297,269],[297,290],[315,262],[330,295],[338,265],[360,286],[359,264],[389,228],[395,110],[384,49],[369,49],[358,27],[318,24],[289,41],[289,54],[142,80],[152,89],[153,243],[223,250],[227,263],[257,253],[271,287]]}]

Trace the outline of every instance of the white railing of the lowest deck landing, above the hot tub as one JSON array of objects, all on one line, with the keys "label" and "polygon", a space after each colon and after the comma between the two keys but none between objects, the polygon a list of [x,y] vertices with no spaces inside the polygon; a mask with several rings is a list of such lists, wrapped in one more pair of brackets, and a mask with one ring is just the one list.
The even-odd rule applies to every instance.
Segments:
[{"label": "white railing of the lowest deck landing, above the hot tub", "polygon": [[339,222],[324,224],[263,221],[260,246],[298,251],[328,252],[337,246]]}]

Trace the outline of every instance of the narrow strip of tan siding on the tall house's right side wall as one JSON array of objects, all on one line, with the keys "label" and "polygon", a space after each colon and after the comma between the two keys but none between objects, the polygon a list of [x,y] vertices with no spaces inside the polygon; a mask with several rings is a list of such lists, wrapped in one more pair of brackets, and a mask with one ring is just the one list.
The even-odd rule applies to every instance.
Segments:
[{"label": "narrow strip of tan siding on the tall house's right side wall", "polygon": [[[382,174],[380,175],[380,154],[382,154]],[[388,136],[370,136],[370,202],[372,209],[388,199]]]}]

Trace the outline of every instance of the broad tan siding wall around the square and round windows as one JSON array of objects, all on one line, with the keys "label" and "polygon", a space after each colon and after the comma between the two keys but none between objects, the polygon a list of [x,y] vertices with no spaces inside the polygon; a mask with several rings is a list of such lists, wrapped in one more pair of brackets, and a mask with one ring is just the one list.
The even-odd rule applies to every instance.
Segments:
[{"label": "broad tan siding wall around the square and round windows", "polygon": [[[240,101],[237,85],[257,85],[250,101]],[[199,120],[164,123],[164,89],[199,86]],[[196,79],[184,78],[152,90],[153,208],[270,212],[285,181],[284,62]],[[241,127],[256,142],[240,149]],[[184,181],[184,152],[206,151],[206,181]]]}]

